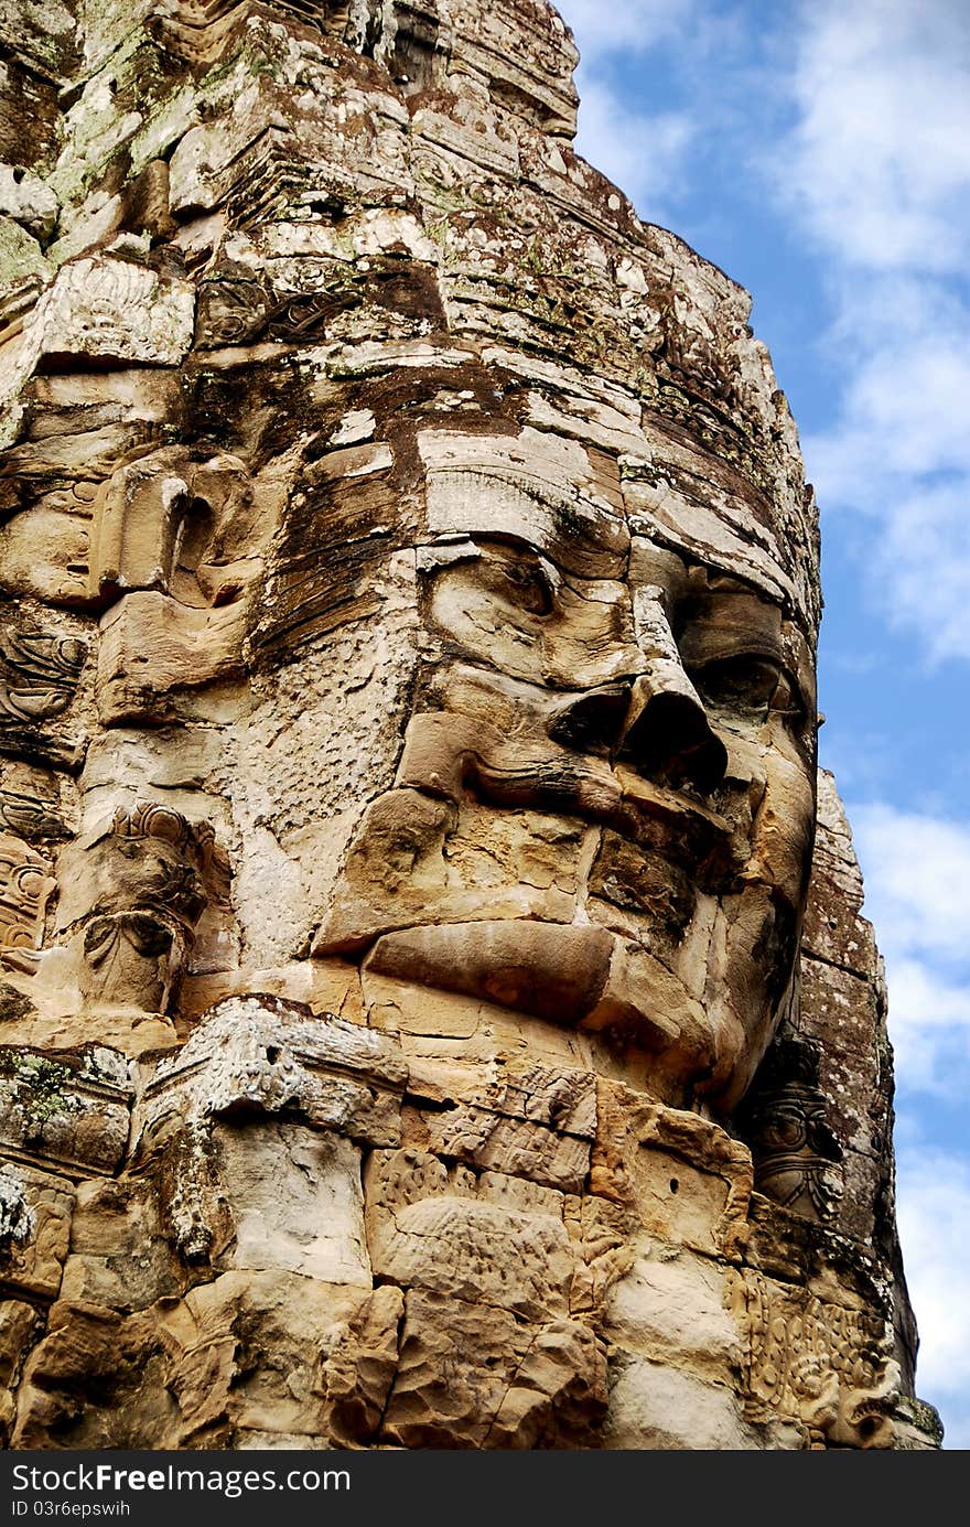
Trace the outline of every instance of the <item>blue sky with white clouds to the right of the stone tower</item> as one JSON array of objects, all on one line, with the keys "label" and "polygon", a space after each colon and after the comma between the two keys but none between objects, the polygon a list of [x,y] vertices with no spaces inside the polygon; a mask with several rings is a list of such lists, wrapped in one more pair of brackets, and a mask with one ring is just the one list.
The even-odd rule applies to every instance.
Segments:
[{"label": "blue sky with white clouds to the right of the stone tower", "polygon": [[918,1393],[970,1448],[970,6],[561,0],[579,150],[755,298],[822,505],[822,764],[886,959]]}]

